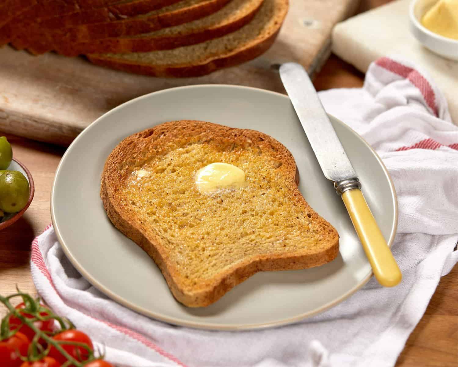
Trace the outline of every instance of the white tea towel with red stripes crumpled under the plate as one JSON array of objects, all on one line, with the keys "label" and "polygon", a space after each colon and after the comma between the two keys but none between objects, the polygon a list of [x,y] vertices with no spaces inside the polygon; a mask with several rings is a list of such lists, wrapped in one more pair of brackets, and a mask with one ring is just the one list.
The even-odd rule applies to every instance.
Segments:
[{"label": "white tea towel with red stripes crumpled under the plate", "polygon": [[381,156],[398,194],[395,288],[373,278],[349,299],[290,326],[216,332],[176,327],[109,300],[76,272],[51,226],[32,245],[32,276],[55,312],[73,320],[106,358],[131,367],[393,366],[439,279],[458,260],[458,127],[432,80],[388,58],[362,89],[320,93],[326,110]]}]

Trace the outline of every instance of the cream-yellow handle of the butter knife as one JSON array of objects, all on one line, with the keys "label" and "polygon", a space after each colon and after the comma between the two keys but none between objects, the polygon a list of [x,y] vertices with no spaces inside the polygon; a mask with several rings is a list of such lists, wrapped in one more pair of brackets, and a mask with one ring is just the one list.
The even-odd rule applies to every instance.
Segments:
[{"label": "cream-yellow handle of the butter knife", "polygon": [[363,193],[360,189],[346,190],[342,194],[342,200],[376,279],[384,287],[395,286],[402,279],[401,271],[367,206]]}]

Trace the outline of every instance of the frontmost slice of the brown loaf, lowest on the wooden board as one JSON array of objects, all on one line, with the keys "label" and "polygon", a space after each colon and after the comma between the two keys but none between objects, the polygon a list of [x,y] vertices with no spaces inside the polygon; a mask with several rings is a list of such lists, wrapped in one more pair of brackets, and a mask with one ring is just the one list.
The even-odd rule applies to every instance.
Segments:
[{"label": "frontmost slice of the brown loaf, lowest on the wooden board", "polygon": [[254,59],[277,37],[288,11],[288,0],[264,0],[255,17],[238,31],[200,44],[173,50],[127,54],[90,54],[94,64],[165,78],[208,74]]}]

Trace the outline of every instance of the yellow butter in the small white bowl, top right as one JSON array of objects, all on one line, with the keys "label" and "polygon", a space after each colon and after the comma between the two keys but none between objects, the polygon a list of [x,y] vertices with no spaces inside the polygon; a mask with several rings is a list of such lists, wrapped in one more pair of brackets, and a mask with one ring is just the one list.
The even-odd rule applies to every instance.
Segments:
[{"label": "yellow butter in the small white bowl, top right", "polygon": [[426,12],[421,24],[431,32],[458,39],[458,0],[440,0]]}]

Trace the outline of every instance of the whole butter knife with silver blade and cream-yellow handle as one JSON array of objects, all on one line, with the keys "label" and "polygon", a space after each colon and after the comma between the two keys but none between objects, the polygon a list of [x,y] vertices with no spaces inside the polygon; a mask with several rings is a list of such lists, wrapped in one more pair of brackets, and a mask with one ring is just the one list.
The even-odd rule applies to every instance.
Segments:
[{"label": "whole butter knife with silver blade and cream-yellow handle", "polygon": [[356,171],[307,72],[300,64],[287,62],[280,66],[280,78],[324,176],[334,183],[344,201],[376,279],[385,287],[395,286],[402,279],[401,271],[364,199]]}]

